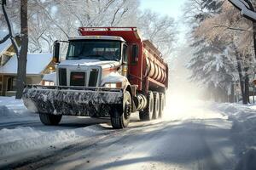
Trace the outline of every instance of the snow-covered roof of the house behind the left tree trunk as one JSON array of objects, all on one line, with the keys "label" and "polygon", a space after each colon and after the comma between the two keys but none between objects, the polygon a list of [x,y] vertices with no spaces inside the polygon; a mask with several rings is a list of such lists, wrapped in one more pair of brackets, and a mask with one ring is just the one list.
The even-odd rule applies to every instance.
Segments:
[{"label": "snow-covered roof of the house behind the left tree trunk", "polygon": [[[49,65],[51,59],[52,54],[27,54],[26,74],[42,74],[42,71]],[[0,67],[0,73],[17,74],[17,57],[11,57],[3,67]]]}]

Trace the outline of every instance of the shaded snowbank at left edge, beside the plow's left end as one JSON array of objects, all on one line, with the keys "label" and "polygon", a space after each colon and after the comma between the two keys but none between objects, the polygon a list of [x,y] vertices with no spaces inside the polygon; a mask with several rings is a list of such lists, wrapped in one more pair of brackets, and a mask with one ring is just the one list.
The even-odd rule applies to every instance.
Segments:
[{"label": "shaded snowbank at left edge, beside the plow's left end", "polygon": [[0,122],[32,121],[38,120],[36,114],[26,110],[21,99],[15,97],[0,97]]}]

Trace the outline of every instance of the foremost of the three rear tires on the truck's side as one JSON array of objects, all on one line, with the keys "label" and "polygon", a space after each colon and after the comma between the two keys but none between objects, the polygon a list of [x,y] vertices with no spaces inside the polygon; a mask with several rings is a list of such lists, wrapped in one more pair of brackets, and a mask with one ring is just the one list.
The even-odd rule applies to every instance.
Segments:
[{"label": "foremost of the three rear tires on the truck's side", "polygon": [[148,101],[147,107],[143,111],[140,111],[139,113],[141,121],[150,121],[153,117],[154,95],[152,92],[148,92],[147,101]]}]

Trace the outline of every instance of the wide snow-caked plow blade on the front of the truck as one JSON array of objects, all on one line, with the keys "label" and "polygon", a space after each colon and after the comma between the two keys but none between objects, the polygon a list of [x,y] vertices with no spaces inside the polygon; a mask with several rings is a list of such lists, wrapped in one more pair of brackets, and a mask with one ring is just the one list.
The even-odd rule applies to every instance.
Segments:
[{"label": "wide snow-caked plow blade on the front of the truck", "polygon": [[23,91],[27,109],[64,116],[109,117],[123,107],[122,88],[84,88],[28,85]]}]

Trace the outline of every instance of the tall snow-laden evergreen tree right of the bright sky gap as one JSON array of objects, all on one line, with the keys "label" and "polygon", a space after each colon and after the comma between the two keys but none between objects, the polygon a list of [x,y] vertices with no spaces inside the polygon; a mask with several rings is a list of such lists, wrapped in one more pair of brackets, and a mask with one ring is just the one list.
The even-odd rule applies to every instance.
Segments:
[{"label": "tall snow-laden evergreen tree right of the bright sky gap", "polygon": [[[188,65],[192,80],[216,95],[229,94],[230,83],[234,79],[234,62],[227,53],[229,43],[222,42],[221,37],[209,39],[198,30],[204,22],[221,13],[222,5],[220,0],[189,0],[184,8],[185,20],[193,26],[189,42],[195,51]],[[217,93],[219,90],[222,92]]]}]

